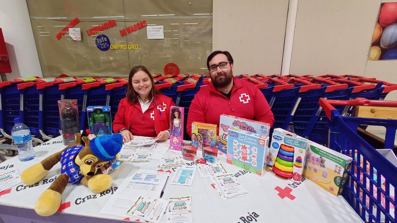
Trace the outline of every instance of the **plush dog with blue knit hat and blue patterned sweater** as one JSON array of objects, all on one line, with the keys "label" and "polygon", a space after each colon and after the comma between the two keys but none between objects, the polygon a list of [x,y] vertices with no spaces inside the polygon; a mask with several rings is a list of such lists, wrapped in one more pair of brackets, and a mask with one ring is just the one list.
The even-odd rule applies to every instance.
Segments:
[{"label": "plush dog with blue knit hat and blue patterned sweater", "polygon": [[61,175],[41,194],[35,204],[35,211],[41,216],[50,216],[59,209],[61,194],[67,183],[82,183],[95,193],[106,191],[112,185],[113,179],[110,175],[95,173],[120,152],[123,136],[119,133],[101,135],[91,141],[85,136],[81,137],[80,133],[75,137],[75,143],[27,168],[21,174],[24,184],[33,185],[42,180],[55,164],[61,162]]}]

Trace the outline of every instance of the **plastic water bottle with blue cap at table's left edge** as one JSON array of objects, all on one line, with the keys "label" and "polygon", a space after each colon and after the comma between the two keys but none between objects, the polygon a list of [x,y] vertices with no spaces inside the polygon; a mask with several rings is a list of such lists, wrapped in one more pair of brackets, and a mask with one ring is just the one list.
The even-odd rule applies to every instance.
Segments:
[{"label": "plastic water bottle with blue cap at table's left edge", "polygon": [[15,145],[18,148],[18,158],[22,162],[31,160],[36,157],[36,152],[33,149],[32,136],[29,127],[22,123],[21,118],[14,118],[14,127],[12,127],[11,134]]}]

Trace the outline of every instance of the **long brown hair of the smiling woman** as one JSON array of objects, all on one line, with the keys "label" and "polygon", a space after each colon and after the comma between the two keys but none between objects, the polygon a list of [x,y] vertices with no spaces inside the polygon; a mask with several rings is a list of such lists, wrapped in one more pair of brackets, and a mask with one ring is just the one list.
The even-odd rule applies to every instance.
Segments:
[{"label": "long brown hair of the smiling woman", "polygon": [[135,104],[138,102],[138,97],[139,94],[137,93],[137,91],[134,90],[133,86],[132,86],[132,77],[134,76],[134,74],[136,74],[138,71],[143,71],[145,72],[149,78],[150,81],[152,82],[152,90],[150,90],[150,93],[148,95],[148,99],[153,99],[154,97],[156,97],[156,94],[160,93],[156,86],[154,86],[154,79],[152,74],[150,74],[150,72],[148,71],[148,69],[145,66],[135,66],[131,69],[131,71],[129,72],[129,77],[128,77],[128,87],[127,87],[127,101],[131,104]]}]

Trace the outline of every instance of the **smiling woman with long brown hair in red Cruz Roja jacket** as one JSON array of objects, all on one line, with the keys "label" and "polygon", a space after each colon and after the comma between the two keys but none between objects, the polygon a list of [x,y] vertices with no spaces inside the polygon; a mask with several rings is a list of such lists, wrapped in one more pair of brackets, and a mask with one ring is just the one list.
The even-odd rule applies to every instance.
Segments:
[{"label": "smiling woman with long brown hair in red Cruz Roja jacket", "polygon": [[114,116],[113,131],[123,135],[123,141],[133,135],[156,137],[164,141],[170,137],[170,97],[162,95],[154,86],[154,79],[144,66],[129,72],[127,95],[121,99]]}]

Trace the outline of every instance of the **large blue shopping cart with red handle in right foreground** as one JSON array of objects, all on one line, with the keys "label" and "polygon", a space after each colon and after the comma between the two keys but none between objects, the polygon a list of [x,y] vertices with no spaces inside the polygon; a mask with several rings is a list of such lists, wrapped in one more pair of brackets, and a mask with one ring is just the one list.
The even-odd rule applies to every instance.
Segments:
[{"label": "large blue shopping cart with red handle in right foreground", "polygon": [[363,221],[396,222],[397,167],[364,141],[357,128],[363,124],[384,126],[385,148],[393,148],[397,120],[343,116],[333,105],[397,107],[397,102],[358,98],[320,99],[319,103],[330,120],[330,148],[353,158],[343,197]]}]

